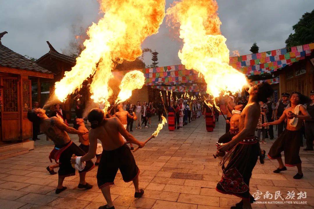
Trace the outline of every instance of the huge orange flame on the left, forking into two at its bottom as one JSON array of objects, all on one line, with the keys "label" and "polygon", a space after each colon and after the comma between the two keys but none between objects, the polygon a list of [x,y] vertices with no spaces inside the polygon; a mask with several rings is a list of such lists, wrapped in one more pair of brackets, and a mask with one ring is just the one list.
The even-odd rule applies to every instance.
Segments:
[{"label": "huge orange flame on the left, forking into two at its bottom", "polygon": [[165,17],[165,0],[100,0],[100,9],[104,17],[89,27],[89,39],[84,41],[85,49],[76,65],[56,82],[55,93],[60,101],[95,74],[90,85],[91,98],[108,106],[111,70],[116,63],[133,61],[142,55],[142,42],[158,32]]}]

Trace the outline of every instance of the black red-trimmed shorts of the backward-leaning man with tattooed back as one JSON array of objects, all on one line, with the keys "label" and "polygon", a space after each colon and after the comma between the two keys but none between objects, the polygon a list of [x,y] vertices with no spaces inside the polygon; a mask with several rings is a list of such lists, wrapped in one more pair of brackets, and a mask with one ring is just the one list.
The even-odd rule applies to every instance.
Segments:
[{"label": "black red-trimmed shorts of the backward-leaning man with tattooed back", "polygon": [[[67,149],[65,149],[60,155],[59,159],[59,178],[75,175],[75,169],[71,165],[71,157],[73,154],[75,154],[76,156],[83,156],[86,153],[74,143],[72,143]],[[78,171],[78,173],[85,173],[89,170],[92,170],[94,167],[95,165],[91,160],[86,161],[84,170]]]}]

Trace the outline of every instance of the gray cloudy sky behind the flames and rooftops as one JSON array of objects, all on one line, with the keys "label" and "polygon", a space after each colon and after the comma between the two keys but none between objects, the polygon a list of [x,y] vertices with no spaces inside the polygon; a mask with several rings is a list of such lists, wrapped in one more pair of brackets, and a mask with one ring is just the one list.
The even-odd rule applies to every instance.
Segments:
[{"label": "gray cloudy sky behind the flames and rooftops", "polygon": [[[166,0],[166,8],[173,0]],[[260,52],[283,48],[292,25],[314,8],[313,0],[217,0],[221,31],[230,51],[250,53],[254,41]],[[0,32],[8,31],[2,44],[21,55],[39,58],[49,51],[66,49],[80,27],[101,17],[97,0],[0,0]],[[181,43],[173,40],[164,23],[158,34],[148,37],[143,48],[160,54],[159,66],[180,64]],[[150,55],[144,57],[151,64]]]}]

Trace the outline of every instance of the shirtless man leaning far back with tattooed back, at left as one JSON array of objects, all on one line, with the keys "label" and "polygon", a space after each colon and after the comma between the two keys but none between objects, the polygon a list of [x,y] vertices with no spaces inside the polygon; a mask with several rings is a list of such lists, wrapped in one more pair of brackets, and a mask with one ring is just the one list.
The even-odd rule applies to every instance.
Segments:
[{"label": "shirtless man leaning far back with tattooed back, at left", "polygon": [[[78,131],[74,128],[68,127],[60,121],[57,117],[48,118],[46,110],[38,108],[32,109],[27,113],[27,118],[31,122],[40,123],[40,130],[46,136],[48,136],[53,143],[55,148],[49,154],[49,159],[54,159],[56,162],[59,160],[59,180],[56,189],[56,194],[64,191],[67,187],[63,186],[63,180],[67,176],[75,175],[75,169],[71,165],[71,157],[73,154],[82,156],[85,152],[74,144],[67,133],[84,135],[86,131]],[[90,189],[93,186],[86,183],[85,175],[86,172],[92,170],[95,167],[94,163],[89,160],[86,162],[84,170],[79,171],[79,189]]]}]

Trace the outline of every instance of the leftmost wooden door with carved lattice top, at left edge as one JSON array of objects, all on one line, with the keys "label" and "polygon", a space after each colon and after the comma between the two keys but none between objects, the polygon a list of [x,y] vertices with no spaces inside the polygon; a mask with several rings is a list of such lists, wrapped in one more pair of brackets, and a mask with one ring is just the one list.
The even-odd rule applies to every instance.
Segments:
[{"label": "leftmost wooden door with carved lattice top, at left edge", "polygon": [[20,139],[19,111],[19,79],[16,77],[1,77],[3,86],[2,141]]}]

